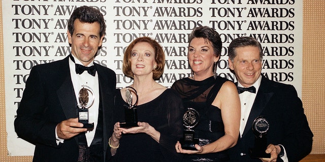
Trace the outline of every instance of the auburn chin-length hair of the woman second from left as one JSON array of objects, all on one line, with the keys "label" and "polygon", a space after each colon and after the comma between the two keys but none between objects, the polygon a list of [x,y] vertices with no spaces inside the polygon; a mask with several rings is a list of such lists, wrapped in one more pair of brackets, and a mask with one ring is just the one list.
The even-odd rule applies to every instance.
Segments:
[{"label": "auburn chin-length hair of the woman second from left", "polygon": [[124,58],[123,58],[123,73],[131,78],[134,78],[134,73],[131,69],[131,55],[132,55],[132,49],[133,47],[140,42],[146,42],[151,45],[151,47],[154,49],[154,61],[157,63],[156,68],[152,70],[153,76],[152,78],[154,80],[158,79],[163,73],[164,73],[164,67],[165,67],[165,53],[163,48],[157,43],[154,39],[151,39],[150,37],[139,37],[136,38],[131,44],[128,45],[124,52]]}]

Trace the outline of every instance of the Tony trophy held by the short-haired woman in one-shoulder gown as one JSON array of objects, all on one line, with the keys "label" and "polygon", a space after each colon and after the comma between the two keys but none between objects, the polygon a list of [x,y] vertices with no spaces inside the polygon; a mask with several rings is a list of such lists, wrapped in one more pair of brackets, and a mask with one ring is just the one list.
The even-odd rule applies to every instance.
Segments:
[{"label": "Tony trophy held by the short-haired woman in one-shoulder gown", "polygon": [[194,145],[199,144],[199,139],[194,138],[194,130],[192,128],[199,123],[199,118],[200,115],[197,110],[187,108],[187,111],[183,115],[183,125],[186,130],[184,130],[183,138],[180,140],[182,149],[197,150]]}]

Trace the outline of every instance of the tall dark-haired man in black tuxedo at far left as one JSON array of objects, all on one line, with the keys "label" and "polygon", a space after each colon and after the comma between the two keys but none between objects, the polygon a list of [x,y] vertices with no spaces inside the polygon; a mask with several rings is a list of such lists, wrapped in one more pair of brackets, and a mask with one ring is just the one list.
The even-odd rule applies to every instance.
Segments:
[{"label": "tall dark-haired man in black tuxedo at far left", "polygon": [[[94,8],[76,8],[68,21],[71,54],[32,67],[15,119],[18,137],[35,144],[33,161],[108,161],[115,72],[94,63],[106,25]],[[85,70],[85,71],[84,71]],[[89,123],[78,122],[79,91],[87,86]]]}]

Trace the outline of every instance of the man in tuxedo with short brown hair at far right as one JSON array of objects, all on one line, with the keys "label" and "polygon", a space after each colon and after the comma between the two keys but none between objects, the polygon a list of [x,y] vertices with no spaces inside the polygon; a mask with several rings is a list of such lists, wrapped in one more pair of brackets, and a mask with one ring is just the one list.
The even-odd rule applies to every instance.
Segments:
[{"label": "man in tuxedo with short brown hair at far right", "polygon": [[[239,37],[229,45],[228,51],[229,67],[238,80],[241,100],[240,135],[237,145],[229,149],[231,160],[299,161],[309,154],[313,134],[302,101],[293,86],[274,82],[261,74],[261,44],[252,37]],[[263,116],[262,125],[256,125],[259,133],[265,133],[268,128],[262,152],[270,153],[270,158],[250,155],[250,149],[256,148],[252,125],[259,116]]]}]

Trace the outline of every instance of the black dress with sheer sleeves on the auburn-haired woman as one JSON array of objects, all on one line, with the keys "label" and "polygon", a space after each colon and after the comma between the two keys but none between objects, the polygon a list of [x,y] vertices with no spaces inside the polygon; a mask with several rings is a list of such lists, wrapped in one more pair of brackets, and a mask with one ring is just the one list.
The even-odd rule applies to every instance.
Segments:
[{"label": "black dress with sheer sleeves on the auburn-haired woman", "polygon": [[[116,91],[114,124],[124,121],[123,100],[120,90]],[[138,120],[146,122],[160,132],[159,143],[145,133],[122,134],[114,161],[181,161],[182,154],[175,144],[182,137],[183,104],[172,89],[165,90],[150,102],[136,106]]]}]

